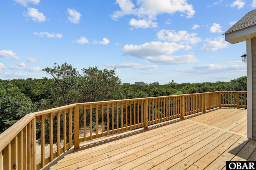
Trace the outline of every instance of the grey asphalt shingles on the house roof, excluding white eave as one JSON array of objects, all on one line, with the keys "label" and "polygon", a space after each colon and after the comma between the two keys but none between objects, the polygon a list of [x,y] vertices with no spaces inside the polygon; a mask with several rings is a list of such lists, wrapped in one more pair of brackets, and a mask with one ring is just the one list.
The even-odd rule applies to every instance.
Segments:
[{"label": "grey asphalt shingles on the house roof, excluding white eave", "polygon": [[253,25],[256,25],[256,10],[248,12],[243,18],[236,22],[224,34],[232,33],[234,31],[238,31],[240,29],[244,29]]}]

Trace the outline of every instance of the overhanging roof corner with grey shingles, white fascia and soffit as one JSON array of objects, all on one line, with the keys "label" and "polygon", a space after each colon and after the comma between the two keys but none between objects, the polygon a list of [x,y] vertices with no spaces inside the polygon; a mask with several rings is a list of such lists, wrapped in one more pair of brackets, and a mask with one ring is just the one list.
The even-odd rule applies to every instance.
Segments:
[{"label": "overhanging roof corner with grey shingles, white fascia and soffit", "polygon": [[256,10],[248,12],[224,34],[226,41],[231,44],[256,37]]}]

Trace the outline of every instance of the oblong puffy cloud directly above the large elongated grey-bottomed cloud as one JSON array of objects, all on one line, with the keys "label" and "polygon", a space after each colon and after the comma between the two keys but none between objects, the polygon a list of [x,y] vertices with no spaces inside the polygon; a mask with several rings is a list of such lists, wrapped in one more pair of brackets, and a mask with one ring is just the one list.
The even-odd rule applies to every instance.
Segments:
[{"label": "oblong puffy cloud directly above the large elongated grey-bottomed cloud", "polygon": [[157,32],[157,37],[160,40],[169,42],[180,42],[186,44],[196,44],[202,41],[201,38],[196,37],[197,33],[188,33],[188,31],[165,30],[162,29]]}]

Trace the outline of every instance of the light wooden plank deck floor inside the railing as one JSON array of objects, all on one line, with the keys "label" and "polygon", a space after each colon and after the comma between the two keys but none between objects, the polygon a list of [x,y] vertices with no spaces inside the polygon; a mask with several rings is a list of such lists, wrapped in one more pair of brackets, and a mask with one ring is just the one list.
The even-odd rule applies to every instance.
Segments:
[{"label": "light wooden plank deck floor inside the railing", "polygon": [[226,169],[226,161],[256,160],[246,133],[247,110],[217,109],[81,144],[51,169]]}]

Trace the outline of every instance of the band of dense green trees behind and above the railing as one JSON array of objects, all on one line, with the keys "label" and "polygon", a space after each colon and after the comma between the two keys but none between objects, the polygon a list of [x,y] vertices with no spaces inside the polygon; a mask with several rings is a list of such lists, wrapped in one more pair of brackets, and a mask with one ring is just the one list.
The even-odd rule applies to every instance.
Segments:
[{"label": "band of dense green trees behind and above the railing", "polygon": [[54,63],[42,69],[51,78],[0,80],[0,133],[28,113],[74,103],[122,100],[214,91],[246,91],[246,76],[230,82],[139,86],[121,84],[115,69],[83,68]]}]

